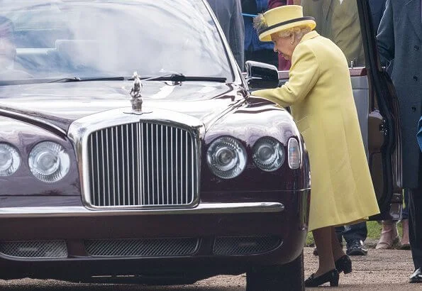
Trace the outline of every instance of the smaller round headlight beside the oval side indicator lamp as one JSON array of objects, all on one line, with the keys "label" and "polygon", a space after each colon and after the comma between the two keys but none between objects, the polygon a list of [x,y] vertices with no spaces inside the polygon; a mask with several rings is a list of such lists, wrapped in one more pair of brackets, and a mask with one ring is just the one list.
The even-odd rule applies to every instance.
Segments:
[{"label": "smaller round headlight beside the oval side indicator lamp", "polygon": [[284,163],[283,146],[274,138],[260,138],[252,148],[252,160],[261,170],[272,172]]}]

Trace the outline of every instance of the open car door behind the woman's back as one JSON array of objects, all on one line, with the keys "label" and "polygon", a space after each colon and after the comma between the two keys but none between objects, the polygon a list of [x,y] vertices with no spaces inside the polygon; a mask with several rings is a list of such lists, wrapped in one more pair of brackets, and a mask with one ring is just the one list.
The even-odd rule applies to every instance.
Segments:
[{"label": "open car door behind the woman's back", "polygon": [[367,123],[361,128],[364,128],[362,135],[367,134],[368,163],[381,211],[373,219],[399,219],[402,202],[399,103],[392,80],[379,62],[377,19],[374,18],[376,1],[356,1],[365,67],[351,69],[350,76],[357,111],[364,122],[367,106]]}]

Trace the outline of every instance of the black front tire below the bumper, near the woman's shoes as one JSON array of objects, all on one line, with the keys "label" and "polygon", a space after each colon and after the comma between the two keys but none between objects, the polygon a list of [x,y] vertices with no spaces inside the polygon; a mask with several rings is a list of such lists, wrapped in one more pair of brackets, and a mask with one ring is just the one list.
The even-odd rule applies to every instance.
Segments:
[{"label": "black front tire below the bumper, near the woman's shoes", "polygon": [[246,273],[246,291],[304,291],[304,253],[285,265],[255,268]]}]

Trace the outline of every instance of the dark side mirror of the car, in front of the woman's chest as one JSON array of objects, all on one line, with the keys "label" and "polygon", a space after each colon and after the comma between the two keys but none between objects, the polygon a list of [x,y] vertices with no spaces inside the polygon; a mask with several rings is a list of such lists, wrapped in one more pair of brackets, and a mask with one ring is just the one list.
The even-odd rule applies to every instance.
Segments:
[{"label": "dark side mirror of the car, in front of the woman's chest", "polygon": [[274,65],[248,60],[245,62],[249,89],[270,89],[279,85],[279,72]]}]

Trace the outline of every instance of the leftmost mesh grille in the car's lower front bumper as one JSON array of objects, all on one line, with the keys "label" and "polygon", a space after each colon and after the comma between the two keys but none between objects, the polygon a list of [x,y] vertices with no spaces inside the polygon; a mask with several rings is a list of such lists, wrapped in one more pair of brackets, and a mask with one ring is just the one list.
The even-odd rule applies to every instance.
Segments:
[{"label": "leftmost mesh grille in the car's lower front bumper", "polygon": [[0,253],[13,258],[67,258],[65,241],[2,241]]}]

